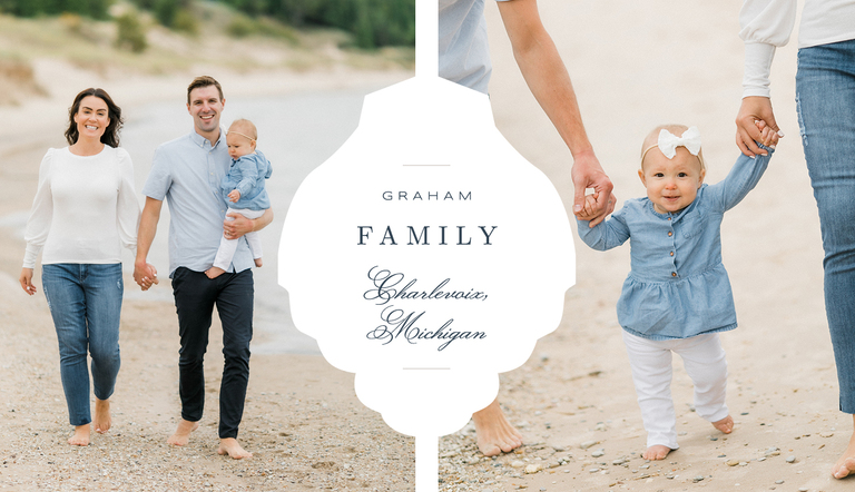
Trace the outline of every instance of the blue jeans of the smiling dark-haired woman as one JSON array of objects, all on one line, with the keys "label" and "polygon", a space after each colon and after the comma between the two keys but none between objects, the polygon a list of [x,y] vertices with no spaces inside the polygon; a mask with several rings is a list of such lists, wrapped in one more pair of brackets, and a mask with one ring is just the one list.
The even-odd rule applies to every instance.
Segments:
[{"label": "blue jeans of the smiling dark-haired woman", "polygon": [[98,400],[112,395],[119,373],[121,264],[60,263],[41,267],[41,284],[59,342],[59,370],[71,425],[91,422],[89,370]]}]

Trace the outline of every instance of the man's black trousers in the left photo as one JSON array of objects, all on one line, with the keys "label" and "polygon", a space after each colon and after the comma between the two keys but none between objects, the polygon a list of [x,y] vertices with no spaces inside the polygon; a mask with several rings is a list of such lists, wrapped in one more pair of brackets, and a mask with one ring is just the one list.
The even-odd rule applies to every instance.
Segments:
[{"label": "man's black trousers in the left photo", "polygon": [[202,272],[178,267],[173,273],[173,295],[181,338],[178,356],[181,419],[202,420],[205,409],[204,358],[216,305],[223,323],[225,361],[219,384],[219,437],[237,437],[249,382],[255,296],[253,270],[225,273],[212,279]]}]

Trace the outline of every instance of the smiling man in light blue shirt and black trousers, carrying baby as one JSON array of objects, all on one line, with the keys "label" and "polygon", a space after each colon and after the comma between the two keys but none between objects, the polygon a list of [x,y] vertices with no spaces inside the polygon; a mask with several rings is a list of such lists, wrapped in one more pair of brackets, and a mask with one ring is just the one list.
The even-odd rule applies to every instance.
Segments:
[{"label": "smiling man in light blue shirt and black trousers, carrying baby", "polygon": [[151,173],[142,188],[146,205],[139,224],[134,279],[144,291],[157,283],[157,270],[146,258],[166,198],[171,217],[169,277],[181,345],[178,360],[181,421],[167,442],[186,445],[190,433],[199,426],[205,404],[203,362],[216,305],[223,323],[225,357],[217,452],[239,460],[253,455],[237,442],[253,337],[254,262],[246,242],[239,242],[225,274],[210,279],[205,270],[214,264],[220,235],[232,239],[259,230],[271,223],[273,213],[268,209],[254,220],[239,215],[226,218],[227,204],[219,190],[230,164],[226,136],[219,128],[225,102],[223,88],[212,77],[197,77],[187,88],[187,111],[193,117],[194,131],[155,151]]}]

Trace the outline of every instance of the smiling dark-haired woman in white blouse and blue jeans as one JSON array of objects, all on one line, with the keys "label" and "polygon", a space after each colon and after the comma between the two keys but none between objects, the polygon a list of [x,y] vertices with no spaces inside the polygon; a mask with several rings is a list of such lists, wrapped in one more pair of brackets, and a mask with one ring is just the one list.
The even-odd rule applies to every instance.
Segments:
[{"label": "smiling dark-haired woman in white blouse and blue jeans", "polygon": [[68,111],[69,146],[49,149],[27,222],[20,283],[36,294],[32,270],[43,247],[42,286],[59,341],[59,366],[69,444],[89,444],[89,371],[92,357],[95,430],[110,429],[119,372],[120,245],[136,249],[139,203],[128,152],[118,148],[121,109],[102,89],[78,94]]}]

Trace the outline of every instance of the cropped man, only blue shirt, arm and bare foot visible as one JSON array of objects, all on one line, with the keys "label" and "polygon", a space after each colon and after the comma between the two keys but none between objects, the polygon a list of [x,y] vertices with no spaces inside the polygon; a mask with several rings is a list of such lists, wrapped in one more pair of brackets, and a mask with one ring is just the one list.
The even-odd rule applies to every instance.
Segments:
[{"label": "cropped man, only blue shirt, arm and bare foot visible", "polygon": [[[582,213],[584,193],[593,188],[593,227],[615,209],[612,184],[593,154],[564,63],[543,28],[537,0],[497,0],[513,56],[525,83],[573,156],[573,213]],[[440,77],[487,94],[490,53],[484,0],[440,0]],[[522,445],[522,435],[508,422],[499,401],[472,415],[478,446],[487,456]]]}]

